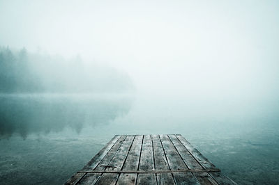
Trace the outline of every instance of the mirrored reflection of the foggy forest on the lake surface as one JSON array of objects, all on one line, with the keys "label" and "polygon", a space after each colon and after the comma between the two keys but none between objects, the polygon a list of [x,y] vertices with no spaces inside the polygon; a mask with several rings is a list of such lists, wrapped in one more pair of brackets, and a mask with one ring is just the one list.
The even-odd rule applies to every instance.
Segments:
[{"label": "mirrored reflection of the foggy forest on the lake surface", "polygon": [[0,137],[14,133],[26,138],[31,133],[80,132],[84,124],[107,124],[128,113],[130,99],[96,97],[0,97]]}]

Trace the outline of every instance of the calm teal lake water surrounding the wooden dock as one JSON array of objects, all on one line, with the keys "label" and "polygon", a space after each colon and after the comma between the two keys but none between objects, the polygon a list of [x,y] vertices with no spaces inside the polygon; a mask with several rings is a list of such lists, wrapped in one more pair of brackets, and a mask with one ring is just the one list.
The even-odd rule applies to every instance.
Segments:
[{"label": "calm teal lake water surrounding the wooden dock", "polygon": [[63,184],[115,134],[182,134],[239,184],[278,184],[278,102],[2,95],[0,184]]}]

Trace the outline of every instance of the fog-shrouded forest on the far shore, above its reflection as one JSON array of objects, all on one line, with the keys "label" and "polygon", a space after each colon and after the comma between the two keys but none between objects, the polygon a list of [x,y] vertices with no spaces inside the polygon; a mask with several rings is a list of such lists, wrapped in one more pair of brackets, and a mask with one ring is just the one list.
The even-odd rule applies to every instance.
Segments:
[{"label": "fog-shrouded forest on the far shore, above its reflection", "polygon": [[113,67],[86,64],[80,57],[30,54],[0,47],[0,93],[122,93],[130,77]]}]

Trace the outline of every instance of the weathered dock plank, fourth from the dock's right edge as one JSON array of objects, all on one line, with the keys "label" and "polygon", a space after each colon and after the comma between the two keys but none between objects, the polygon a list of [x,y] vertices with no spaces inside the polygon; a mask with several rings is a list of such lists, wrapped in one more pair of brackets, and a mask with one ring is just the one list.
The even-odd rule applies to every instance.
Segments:
[{"label": "weathered dock plank, fourth from the dock's right edge", "polygon": [[[169,165],[167,163],[167,159],[165,156],[165,152],[163,150],[162,143],[160,142],[160,138],[158,135],[152,136],[153,143],[153,154],[154,154],[154,162],[156,170],[170,170]],[[174,178],[171,173],[167,174],[157,174],[157,182],[158,184],[175,184]]]}]

